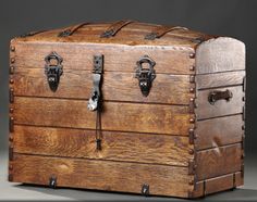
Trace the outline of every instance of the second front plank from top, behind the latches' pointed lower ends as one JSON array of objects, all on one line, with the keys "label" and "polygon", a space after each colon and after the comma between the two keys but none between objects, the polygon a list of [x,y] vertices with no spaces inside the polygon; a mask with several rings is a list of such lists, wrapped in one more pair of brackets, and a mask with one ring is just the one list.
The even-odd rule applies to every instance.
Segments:
[{"label": "second front plank from top, behind the latches' pointed lower ends", "polygon": [[[17,96],[88,99],[91,96],[91,71],[64,70],[60,85],[52,92],[41,68],[17,67],[14,74],[14,93]],[[102,93],[106,100],[188,104],[188,75],[158,74],[148,97],[144,97],[134,73],[107,72]]]}]

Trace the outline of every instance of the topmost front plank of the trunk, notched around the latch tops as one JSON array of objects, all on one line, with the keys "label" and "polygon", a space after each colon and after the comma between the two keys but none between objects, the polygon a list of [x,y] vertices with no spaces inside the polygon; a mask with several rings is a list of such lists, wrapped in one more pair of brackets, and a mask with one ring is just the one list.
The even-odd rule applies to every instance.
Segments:
[{"label": "topmost front plank of the trunk, notched around the latch tops", "polygon": [[105,72],[135,73],[136,62],[144,55],[156,61],[156,73],[191,74],[194,59],[193,50],[173,49],[172,47],[115,46],[94,43],[58,42],[13,42],[15,46],[15,66],[27,68],[45,67],[45,56],[56,51],[63,58],[63,71],[93,70],[95,54],[105,55]]}]

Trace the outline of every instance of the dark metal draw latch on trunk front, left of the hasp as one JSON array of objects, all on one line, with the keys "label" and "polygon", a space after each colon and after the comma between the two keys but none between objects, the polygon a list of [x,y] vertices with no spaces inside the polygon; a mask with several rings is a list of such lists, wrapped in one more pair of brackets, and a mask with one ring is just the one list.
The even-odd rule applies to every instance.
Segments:
[{"label": "dark metal draw latch on trunk front, left of the hasp", "polygon": [[63,73],[62,70],[63,60],[58,53],[52,52],[45,58],[45,61],[46,61],[45,74],[47,75],[47,80],[50,89],[54,92],[58,89],[60,77]]}]

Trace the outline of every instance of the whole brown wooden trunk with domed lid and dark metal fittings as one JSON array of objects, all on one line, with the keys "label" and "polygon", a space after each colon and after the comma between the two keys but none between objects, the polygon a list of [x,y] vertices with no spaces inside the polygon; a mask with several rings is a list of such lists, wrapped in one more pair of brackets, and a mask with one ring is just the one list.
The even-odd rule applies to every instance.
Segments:
[{"label": "whole brown wooden trunk with domed lid and dark metal fittings", "polygon": [[244,178],[245,46],[120,21],[16,37],[9,180],[198,198]]}]

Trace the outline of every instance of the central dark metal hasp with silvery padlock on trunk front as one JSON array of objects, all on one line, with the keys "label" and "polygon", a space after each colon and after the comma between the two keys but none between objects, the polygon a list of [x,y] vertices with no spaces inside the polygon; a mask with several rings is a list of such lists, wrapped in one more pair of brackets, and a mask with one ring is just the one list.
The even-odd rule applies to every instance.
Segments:
[{"label": "central dark metal hasp with silvery padlock on trunk front", "polygon": [[90,111],[98,109],[100,97],[101,97],[101,75],[103,71],[103,55],[94,56],[94,70],[93,70],[93,93],[88,101],[87,108]]}]

